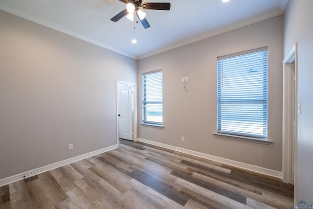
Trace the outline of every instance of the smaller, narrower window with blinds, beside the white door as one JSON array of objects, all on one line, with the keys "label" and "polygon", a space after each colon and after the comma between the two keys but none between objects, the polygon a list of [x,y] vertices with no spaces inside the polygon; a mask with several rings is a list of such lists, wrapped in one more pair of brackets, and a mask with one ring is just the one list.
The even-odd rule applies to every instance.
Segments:
[{"label": "smaller, narrower window with blinds, beside the white door", "polygon": [[142,74],[142,123],[163,124],[162,70]]}]

